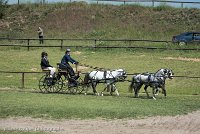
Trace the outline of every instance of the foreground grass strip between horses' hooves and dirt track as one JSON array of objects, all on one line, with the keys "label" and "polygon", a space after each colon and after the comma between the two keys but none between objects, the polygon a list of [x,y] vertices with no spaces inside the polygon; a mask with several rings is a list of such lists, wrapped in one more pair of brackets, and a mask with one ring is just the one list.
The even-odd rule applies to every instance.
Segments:
[{"label": "foreground grass strip between horses' hooves and dirt track", "polygon": [[157,101],[121,97],[41,94],[31,92],[0,92],[0,117],[30,116],[34,118],[141,118],[150,116],[174,116],[186,114],[200,108],[200,97],[190,95],[171,95],[159,97]]}]

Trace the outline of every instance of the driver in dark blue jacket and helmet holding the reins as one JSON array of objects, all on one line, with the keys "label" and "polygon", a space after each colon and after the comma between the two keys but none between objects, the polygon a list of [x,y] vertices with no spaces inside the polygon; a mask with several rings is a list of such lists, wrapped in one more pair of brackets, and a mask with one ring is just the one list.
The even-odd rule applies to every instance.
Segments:
[{"label": "driver in dark blue jacket and helmet holding the reins", "polygon": [[59,68],[67,70],[70,75],[70,78],[77,80],[79,78],[79,74],[77,76],[75,76],[75,72],[74,72],[73,68],[70,66],[69,62],[71,62],[72,64],[76,64],[76,65],[78,64],[78,62],[76,60],[74,60],[73,58],[71,58],[70,52],[71,52],[71,50],[68,48],[65,52],[65,55],[63,56],[63,58],[61,60]]}]

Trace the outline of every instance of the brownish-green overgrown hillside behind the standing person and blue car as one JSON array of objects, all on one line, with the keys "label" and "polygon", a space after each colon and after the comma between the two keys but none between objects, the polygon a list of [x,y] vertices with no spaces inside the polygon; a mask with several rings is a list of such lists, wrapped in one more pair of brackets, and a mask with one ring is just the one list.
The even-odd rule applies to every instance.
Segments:
[{"label": "brownish-green overgrown hillside behind the standing person and blue car", "polygon": [[38,26],[48,38],[171,40],[181,32],[200,30],[200,10],[86,3],[9,5],[0,20],[0,35],[37,38]]}]

